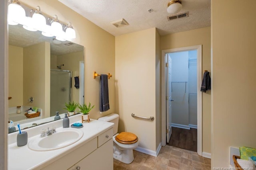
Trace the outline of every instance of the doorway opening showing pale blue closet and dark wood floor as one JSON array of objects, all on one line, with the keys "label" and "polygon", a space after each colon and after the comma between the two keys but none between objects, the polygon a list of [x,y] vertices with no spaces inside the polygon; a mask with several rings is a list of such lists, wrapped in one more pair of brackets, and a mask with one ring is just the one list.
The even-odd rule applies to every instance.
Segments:
[{"label": "doorway opening showing pale blue closet and dark wood floor", "polygon": [[167,145],[197,152],[197,50],[168,53],[166,61]]}]

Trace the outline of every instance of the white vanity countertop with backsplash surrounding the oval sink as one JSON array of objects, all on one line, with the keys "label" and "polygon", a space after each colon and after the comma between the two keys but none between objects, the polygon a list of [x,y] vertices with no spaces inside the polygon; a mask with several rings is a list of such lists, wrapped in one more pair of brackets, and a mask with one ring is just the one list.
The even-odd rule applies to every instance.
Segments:
[{"label": "white vanity countertop with backsplash surrounding the oval sink", "polygon": [[[78,121],[78,119],[80,119],[80,118],[81,118],[81,115],[72,116],[73,121],[70,121],[71,122],[70,125],[73,124],[74,122],[81,123],[81,121]],[[24,131],[27,131],[27,133],[28,133],[28,143],[34,137],[40,136],[40,129],[52,127],[52,125],[56,126],[57,127],[56,131],[58,131],[58,128],[62,128],[62,119],[24,130]],[[9,134],[8,135],[8,142],[9,142],[9,145],[8,145],[8,170],[41,169],[41,168],[47,166],[48,164],[58,160],[62,156],[81,147],[88,141],[97,137],[99,134],[112,128],[114,126],[114,123],[90,119],[90,123],[87,123],[87,121],[86,121],[83,123],[83,125],[84,125],[84,127],[80,128],[80,130],[82,130],[84,132],[84,135],[79,141],[77,141],[76,143],[74,143],[72,145],[69,145],[68,147],[64,147],[64,148],[56,149],[56,150],[49,150],[49,151],[33,151],[28,148],[28,145],[18,147],[17,143],[14,139],[17,136],[17,132]],[[69,128],[71,128],[71,127],[69,127]],[[69,128],[64,128],[64,129],[69,129]],[[10,140],[9,140],[9,138],[10,138]]]}]

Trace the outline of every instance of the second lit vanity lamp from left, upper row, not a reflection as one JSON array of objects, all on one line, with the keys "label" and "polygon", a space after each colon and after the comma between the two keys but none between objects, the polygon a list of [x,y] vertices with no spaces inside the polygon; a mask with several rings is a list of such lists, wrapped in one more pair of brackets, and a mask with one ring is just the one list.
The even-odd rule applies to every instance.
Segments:
[{"label": "second lit vanity lamp from left, upper row, not a reflection", "polygon": [[31,10],[31,12],[34,13],[32,15],[33,27],[38,31],[45,31],[46,19],[42,15],[40,6],[36,6],[36,10]]}]

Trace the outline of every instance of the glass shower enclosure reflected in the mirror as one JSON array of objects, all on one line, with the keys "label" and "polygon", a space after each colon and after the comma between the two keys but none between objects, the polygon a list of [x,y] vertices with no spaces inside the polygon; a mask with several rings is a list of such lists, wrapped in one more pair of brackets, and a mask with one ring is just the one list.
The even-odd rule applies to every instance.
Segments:
[{"label": "glass shower enclosure reflected in the mirror", "polygon": [[66,113],[65,103],[71,101],[71,78],[72,71],[51,69],[50,80],[50,116],[54,116],[56,111]]}]

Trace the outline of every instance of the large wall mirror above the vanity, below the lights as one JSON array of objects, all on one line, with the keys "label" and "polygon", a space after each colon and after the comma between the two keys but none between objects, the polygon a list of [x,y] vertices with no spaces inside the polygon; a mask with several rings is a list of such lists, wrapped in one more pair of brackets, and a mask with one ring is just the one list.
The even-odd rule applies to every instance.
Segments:
[{"label": "large wall mirror above the vanity, below the lights", "polygon": [[[8,27],[8,121],[24,129],[53,121],[56,111],[64,117],[66,102],[83,104],[84,47],[44,37],[20,24]],[[25,115],[30,107],[37,107],[40,115]]]}]

